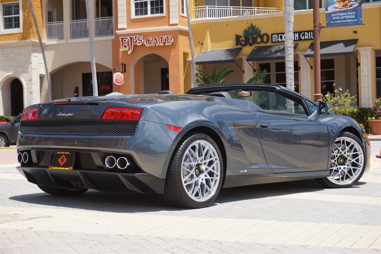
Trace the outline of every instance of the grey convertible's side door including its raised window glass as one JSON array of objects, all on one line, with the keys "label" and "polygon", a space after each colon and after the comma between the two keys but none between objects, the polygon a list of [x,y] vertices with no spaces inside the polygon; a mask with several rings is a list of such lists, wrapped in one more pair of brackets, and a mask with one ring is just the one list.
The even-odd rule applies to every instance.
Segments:
[{"label": "grey convertible's side door including its raised window glass", "polygon": [[256,130],[274,173],[327,170],[328,128],[308,120],[303,98],[280,91],[259,91]]}]

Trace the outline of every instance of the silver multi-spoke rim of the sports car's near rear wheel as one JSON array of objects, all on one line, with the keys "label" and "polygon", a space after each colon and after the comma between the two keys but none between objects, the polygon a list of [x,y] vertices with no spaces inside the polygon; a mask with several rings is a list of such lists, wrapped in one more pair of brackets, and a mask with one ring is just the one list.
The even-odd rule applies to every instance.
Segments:
[{"label": "silver multi-spoke rim of the sports car's near rear wheel", "polygon": [[188,196],[203,202],[215,194],[221,178],[216,149],[205,140],[197,140],[186,149],[181,163],[182,185]]}]

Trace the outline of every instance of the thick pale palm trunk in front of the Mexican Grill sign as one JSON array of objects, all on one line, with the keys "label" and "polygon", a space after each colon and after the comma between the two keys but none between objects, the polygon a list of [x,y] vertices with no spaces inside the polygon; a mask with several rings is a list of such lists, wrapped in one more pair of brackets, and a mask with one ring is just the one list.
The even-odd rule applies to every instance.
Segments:
[{"label": "thick pale palm trunk in front of the Mexican Grill sign", "polygon": [[294,0],[284,0],[286,87],[294,88]]}]

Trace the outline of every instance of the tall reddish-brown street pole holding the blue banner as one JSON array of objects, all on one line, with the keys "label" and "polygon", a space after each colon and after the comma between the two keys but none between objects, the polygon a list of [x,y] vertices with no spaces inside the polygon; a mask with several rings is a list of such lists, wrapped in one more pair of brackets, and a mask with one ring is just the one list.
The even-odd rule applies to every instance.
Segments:
[{"label": "tall reddish-brown street pole holding the blue banner", "polygon": [[312,1],[313,16],[314,16],[314,101],[319,102],[322,100],[322,90],[320,83],[320,31],[322,24],[319,21],[319,2]]}]

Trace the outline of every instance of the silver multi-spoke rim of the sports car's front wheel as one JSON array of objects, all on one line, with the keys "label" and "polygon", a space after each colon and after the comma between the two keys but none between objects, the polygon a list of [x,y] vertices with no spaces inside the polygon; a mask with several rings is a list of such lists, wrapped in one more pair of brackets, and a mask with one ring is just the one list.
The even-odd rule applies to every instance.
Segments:
[{"label": "silver multi-spoke rim of the sports car's front wheel", "polygon": [[331,171],[327,178],[337,185],[348,185],[359,178],[364,163],[359,143],[350,137],[338,137],[332,150]]}]

